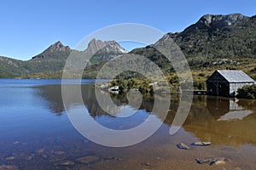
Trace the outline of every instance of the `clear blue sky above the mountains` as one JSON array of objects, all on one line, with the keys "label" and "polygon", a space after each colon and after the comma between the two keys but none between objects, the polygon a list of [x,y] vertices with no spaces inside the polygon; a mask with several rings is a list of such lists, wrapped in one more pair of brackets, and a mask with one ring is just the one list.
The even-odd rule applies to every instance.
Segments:
[{"label": "clear blue sky above the mountains", "polygon": [[[255,0],[3,0],[0,55],[31,59],[61,41],[74,48],[104,26],[139,23],[160,31],[183,31],[203,14],[256,14]],[[131,48],[128,47],[127,48]]]}]

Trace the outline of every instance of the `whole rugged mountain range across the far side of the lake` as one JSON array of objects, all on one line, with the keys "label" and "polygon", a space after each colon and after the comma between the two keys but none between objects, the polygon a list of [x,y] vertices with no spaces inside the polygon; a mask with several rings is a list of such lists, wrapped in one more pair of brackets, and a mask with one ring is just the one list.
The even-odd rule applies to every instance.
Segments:
[{"label": "whole rugged mountain range across the far side of the lake", "polygon": [[[243,69],[256,74],[256,15],[206,14],[181,32],[167,33],[154,45],[169,38],[181,48],[192,70]],[[48,74],[49,77],[61,77],[61,70],[72,52],[94,54],[88,61],[90,66],[87,73],[96,71],[108,59],[127,53],[114,41],[92,39],[84,51],[76,51],[61,42],[55,42],[41,54],[26,61],[0,57],[0,77],[45,77]],[[170,63],[152,45],[133,49],[129,53],[143,54],[164,71],[172,72]]]}]

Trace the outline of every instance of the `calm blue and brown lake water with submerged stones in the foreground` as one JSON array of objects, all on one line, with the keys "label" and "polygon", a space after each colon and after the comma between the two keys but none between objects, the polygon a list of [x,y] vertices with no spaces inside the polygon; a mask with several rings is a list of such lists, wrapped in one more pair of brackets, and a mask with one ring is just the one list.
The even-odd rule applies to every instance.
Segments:
[{"label": "calm blue and brown lake water with submerged stones in the foreground", "polygon": [[[97,104],[93,81],[83,81],[82,94],[90,116],[113,129],[136,127],[150,115],[154,104],[152,98],[143,99],[136,114],[116,118]],[[133,108],[125,96],[113,95],[112,99]],[[70,105],[71,109],[76,105],[75,99]],[[0,170],[256,169],[256,100],[194,96],[183,127],[170,135],[177,106],[178,98],[172,96],[166,119],[159,118],[164,123],[149,139],[109,148],[90,142],[75,130],[62,104],[61,80],[0,79]],[[191,146],[195,141],[212,144]],[[178,143],[188,144],[190,150],[178,149]],[[221,156],[230,161],[221,166],[195,161]]]}]

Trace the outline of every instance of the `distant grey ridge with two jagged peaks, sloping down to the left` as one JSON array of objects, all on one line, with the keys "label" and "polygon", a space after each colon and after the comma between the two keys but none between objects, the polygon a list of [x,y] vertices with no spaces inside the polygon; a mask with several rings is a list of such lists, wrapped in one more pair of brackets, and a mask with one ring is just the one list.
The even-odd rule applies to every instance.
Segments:
[{"label": "distant grey ridge with two jagged peaks, sloping down to the left", "polygon": [[58,72],[64,68],[67,58],[71,53],[85,56],[88,55],[86,50],[90,52],[94,50],[93,52],[96,53],[90,59],[92,64],[113,59],[119,54],[124,54],[123,52],[126,53],[125,49],[115,41],[102,42],[101,40],[94,39],[91,40],[91,43],[94,43],[96,48],[92,49],[88,46],[84,51],[78,51],[58,41],[49,45],[42,53],[28,60],[0,57],[0,77],[26,77],[40,72]]}]

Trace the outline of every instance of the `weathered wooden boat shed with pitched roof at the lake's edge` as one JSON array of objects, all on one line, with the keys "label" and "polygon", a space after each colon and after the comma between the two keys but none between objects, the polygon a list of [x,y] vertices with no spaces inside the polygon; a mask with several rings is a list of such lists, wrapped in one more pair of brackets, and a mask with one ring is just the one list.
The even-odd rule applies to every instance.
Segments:
[{"label": "weathered wooden boat shed with pitched roof at the lake's edge", "polygon": [[207,94],[233,97],[238,88],[254,83],[253,78],[243,71],[217,70],[207,79]]}]

